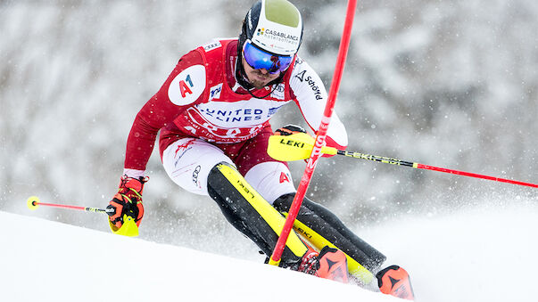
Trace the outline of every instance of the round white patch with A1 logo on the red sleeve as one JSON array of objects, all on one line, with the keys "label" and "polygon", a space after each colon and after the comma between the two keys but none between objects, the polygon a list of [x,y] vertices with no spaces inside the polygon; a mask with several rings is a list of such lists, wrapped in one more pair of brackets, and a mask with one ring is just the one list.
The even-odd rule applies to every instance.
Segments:
[{"label": "round white patch with A1 logo on the red sleeve", "polygon": [[170,102],[178,106],[195,102],[205,90],[205,68],[203,65],[191,66],[181,71],[168,87]]}]

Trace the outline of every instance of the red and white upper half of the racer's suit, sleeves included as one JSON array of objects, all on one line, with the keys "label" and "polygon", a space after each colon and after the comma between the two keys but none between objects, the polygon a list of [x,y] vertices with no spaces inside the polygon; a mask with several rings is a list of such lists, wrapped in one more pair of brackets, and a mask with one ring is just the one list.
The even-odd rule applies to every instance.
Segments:
[{"label": "red and white upper half of the racer's suit, sleeves included", "polygon": [[[319,76],[296,57],[280,84],[251,91],[236,82],[237,39],[213,40],[186,53],[161,89],[145,103],[128,135],[125,174],[144,175],[161,130],[160,151],[183,137],[219,144],[244,142],[269,126],[269,119],[294,101],[315,133],[327,102]],[[334,114],[327,145],[343,149],[347,135]]]}]

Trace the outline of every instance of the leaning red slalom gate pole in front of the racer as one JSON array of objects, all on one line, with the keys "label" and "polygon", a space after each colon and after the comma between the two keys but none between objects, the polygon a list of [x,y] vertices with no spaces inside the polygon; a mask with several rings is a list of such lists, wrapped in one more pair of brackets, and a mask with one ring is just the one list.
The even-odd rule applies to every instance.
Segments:
[{"label": "leaning red slalom gate pole in front of the racer", "polygon": [[352,36],[352,25],[353,19],[355,17],[355,8],[357,7],[357,0],[349,0],[347,4],[347,11],[345,14],[345,22],[343,24],[343,34],[342,40],[340,41],[340,48],[338,50],[338,57],[336,58],[335,74],[333,76],[333,82],[329,90],[329,95],[327,99],[327,104],[323,112],[323,118],[321,118],[321,124],[319,125],[318,134],[316,135],[316,143],[314,148],[310,153],[310,159],[306,164],[304,173],[302,174],[301,183],[297,188],[297,193],[295,193],[294,201],[290,207],[288,215],[286,217],[286,222],[282,228],[282,232],[278,237],[277,244],[273,250],[273,255],[269,257],[269,265],[278,265],[280,263],[280,258],[286,247],[287,238],[294,227],[295,218],[299,213],[299,208],[301,208],[302,200],[306,194],[306,190],[310,184],[310,179],[316,168],[319,156],[321,155],[321,147],[325,143],[325,137],[327,136],[327,129],[329,122],[331,121],[331,116],[335,109],[336,95],[338,94],[338,89],[340,87],[340,81],[342,80],[343,74],[343,65],[345,63],[345,58],[350,45],[350,39]]}]

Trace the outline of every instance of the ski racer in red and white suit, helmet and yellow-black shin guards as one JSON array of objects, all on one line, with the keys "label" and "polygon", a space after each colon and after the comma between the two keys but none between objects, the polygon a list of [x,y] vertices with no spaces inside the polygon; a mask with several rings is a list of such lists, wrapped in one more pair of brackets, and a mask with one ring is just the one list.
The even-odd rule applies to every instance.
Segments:
[{"label": "ski racer in red and white suit, helmet and yellow-black shin guards", "polygon": [[[294,4],[260,0],[247,12],[238,38],[215,39],[181,57],[137,113],[128,135],[120,190],[107,207],[113,210],[112,231],[126,215],[137,225],[144,216],[145,167],[160,131],[161,161],[170,179],[187,192],[209,195],[229,223],[269,257],[295,192],[286,162],[267,153],[273,135],[269,119],[294,102],[315,133],[327,101],[319,76],[297,55],[301,43],[302,17]],[[277,130],[294,132],[304,130]],[[336,115],[327,145],[347,145]],[[281,266],[340,282],[347,282],[349,273],[364,284],[380,272],[385,256],[327,208],[305,198],[297,224],[302,237],[290,234]],[[401,269],[381,272],[397,276]],[[393,290],[391,282],[381,283]]]}]

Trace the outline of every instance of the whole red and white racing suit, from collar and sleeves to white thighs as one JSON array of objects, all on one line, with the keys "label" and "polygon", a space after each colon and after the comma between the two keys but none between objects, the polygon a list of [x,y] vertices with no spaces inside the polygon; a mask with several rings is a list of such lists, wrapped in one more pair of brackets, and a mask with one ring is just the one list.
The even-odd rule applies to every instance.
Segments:
[{"label": "whole red and white racing suit, from collar and sleeves to white thighs", "polygon": [[[145,174],[157,133],[161,159],[170,178],[189,192],[207,194],[206,178],[215,164],[237,167],[271,203],[294,192],[286,163],[267,154],[269,119],[294,101],[311,130],[319,127],[327,91],[310,66],[296,58],[280,84],[251,91],[236,82],[237,40],[220,39],[186,53],[161,89],[145,103],[128,135],[124,173]],[[347,135],[334,114],[327,145],[343,149]]]}]

